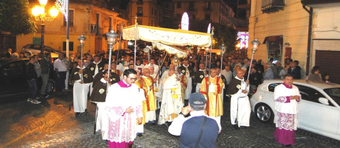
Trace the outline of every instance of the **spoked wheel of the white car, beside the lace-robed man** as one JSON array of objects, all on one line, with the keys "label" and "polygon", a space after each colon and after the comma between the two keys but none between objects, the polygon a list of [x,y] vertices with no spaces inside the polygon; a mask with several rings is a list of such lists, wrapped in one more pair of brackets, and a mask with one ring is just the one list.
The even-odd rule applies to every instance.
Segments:
[{"label": "spoked wheel of the white car, beside the lace-robed man", "polygon": [[272,109],[266,104],[259,104],[255,107],[256,117],[264,123],[273,121],[274,113]]}]

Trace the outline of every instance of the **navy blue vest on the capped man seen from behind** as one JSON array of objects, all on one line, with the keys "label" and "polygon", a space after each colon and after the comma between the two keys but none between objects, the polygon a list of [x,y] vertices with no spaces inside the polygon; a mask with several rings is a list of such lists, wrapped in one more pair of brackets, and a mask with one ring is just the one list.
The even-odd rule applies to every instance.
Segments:
[{"label": "navy blue vest on the capped man seen from behind", "polygon": [[[183,123],[179,148],[195,148],[201,132],[204,116],[195,116]],[[207,117],[198,148],[216,148],[219,127],[216,120]]]}]

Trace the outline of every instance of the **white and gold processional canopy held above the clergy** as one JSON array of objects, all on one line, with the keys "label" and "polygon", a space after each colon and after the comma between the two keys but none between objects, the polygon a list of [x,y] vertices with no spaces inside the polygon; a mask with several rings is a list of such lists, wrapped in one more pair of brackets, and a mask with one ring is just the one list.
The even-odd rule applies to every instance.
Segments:
[{"label": "white and gold processional canopy held above the clergy", "polygon": [[[123,28],[123,39],[135,40],[135,31],[135,25]],[[211,34],[143,25],[137,26],[137,39],[179,46],[209,47],[211,45]]]}]

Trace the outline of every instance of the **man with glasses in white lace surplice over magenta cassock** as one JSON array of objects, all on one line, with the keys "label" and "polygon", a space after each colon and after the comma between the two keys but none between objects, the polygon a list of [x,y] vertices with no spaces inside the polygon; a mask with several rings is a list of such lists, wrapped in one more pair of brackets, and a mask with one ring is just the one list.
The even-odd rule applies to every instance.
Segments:
[{"label": "man with glasses in white lace surplice over magenta cassock", "polygon": [[144,97],[134,84],[136,76],[135,70],[127,69],[123,79],[108,88],[105,109],[109,116],[109,148],[132,147],[136,138],[136,125],[142,122],[143,117],[141,97]]}]

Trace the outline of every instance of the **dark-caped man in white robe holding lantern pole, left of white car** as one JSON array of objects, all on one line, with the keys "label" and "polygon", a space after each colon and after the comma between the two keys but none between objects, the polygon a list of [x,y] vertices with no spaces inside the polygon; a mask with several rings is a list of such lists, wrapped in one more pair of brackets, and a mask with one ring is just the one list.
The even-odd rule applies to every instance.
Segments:
[{"label": "dark-caped man in white robe holding lantern pole, left of white car", "polygon": [[238,70],[237,75],[231,80],[227,94],[231,95],[230,119],[235,128],[249,126],[250,102],[248,98],[249,80],[244,80],[244,70]]}]

